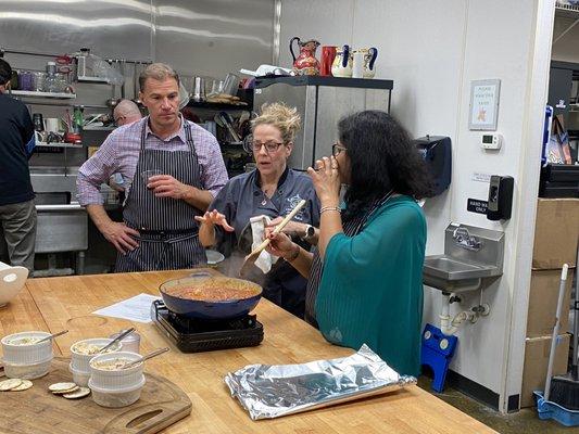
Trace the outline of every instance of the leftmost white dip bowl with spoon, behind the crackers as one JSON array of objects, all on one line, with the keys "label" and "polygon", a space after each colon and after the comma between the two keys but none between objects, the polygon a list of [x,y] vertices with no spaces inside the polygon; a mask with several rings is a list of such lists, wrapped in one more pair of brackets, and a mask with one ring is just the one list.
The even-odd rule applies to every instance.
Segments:
[{"label": "leftmost white dip bowl with spoon, behind the crackers", "polygon": [[33,331],[2,337],[4,373],[11,379],[34,380],[48,373],[52,361],[52,340],[48,332]]}]

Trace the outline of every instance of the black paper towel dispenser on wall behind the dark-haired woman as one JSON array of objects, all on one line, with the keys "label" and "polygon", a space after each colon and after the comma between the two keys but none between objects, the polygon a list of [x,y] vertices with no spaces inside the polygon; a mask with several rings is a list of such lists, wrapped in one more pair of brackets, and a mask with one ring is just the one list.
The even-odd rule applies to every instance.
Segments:
[{"label": "black paper towel dispenser on wall behind the dark-haired woman", "polygon": [[452,150],[451,138],[444,136],[426,136],[414,140],[433,181],[431,197],[438,196],[451,184]]}]

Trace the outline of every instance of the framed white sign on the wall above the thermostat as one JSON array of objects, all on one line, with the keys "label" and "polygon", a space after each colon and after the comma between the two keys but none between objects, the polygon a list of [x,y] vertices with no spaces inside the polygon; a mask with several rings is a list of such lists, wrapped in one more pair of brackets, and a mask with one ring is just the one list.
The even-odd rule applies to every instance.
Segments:
[{"label": "framed white sign on the wall above the thermostat", "polygon": [[496,130],[501,80],[477,80],[470,82],[469,129]]}]

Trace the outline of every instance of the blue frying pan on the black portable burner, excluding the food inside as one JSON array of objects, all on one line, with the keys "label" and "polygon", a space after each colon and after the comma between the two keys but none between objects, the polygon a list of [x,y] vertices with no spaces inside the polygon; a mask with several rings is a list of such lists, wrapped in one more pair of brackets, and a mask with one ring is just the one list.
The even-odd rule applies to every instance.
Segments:
[{"label": "blue frying pan on the black portable burner, excluding the food inside", "polygon": [[[174,279],[165,283],[162,283],[159,288],[163,302],[167,308],[175,312],[189,318],[197,319],[212,319],[212,320],[223,320],[223,319],[232,319],[243,317],[249,314],[256,305],[260,303],[262,296],[262,289],[255,283],[260,289],[260,292],[256,295],[253,295],[249,298],[232,298],[223,302],[205,302],[199,299],[181,298],[174,295],[167,294],[165,291],[175,288],[184,286],[188,284],[199,284],[200,279],[211,279],[212,275],[209,272],[194,272],[188,278]],[[231,279],[238,281],[239,279]],[[247,281],[244,281],[247,282]]]}]

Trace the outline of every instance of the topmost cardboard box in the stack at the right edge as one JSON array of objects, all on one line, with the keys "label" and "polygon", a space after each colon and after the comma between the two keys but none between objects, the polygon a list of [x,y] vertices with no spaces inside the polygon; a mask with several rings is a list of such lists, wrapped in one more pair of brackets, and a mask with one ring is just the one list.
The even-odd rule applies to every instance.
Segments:
[{"label": "topmost cardboard box in the stack at the right edge", "polygon": [[579,199],[539,199],[532,268],[575,267],[579,238]]}]

